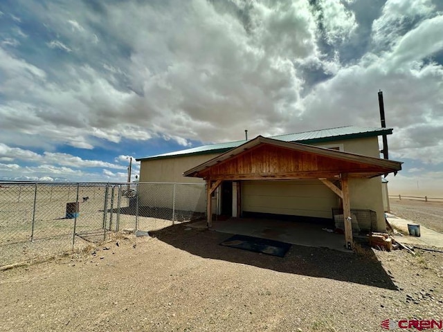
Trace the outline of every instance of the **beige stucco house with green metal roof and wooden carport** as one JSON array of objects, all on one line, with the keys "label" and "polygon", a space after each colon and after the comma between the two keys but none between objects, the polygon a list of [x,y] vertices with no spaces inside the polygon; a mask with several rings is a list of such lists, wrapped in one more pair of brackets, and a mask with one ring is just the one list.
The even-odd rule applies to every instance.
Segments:
[{"label": "beige stucco house with green metal roof and wooden carport", "polygon": [[381,176],[401,163],[380,158],[378,138],[391,133],[350,126],[205,145],[137,159],[140,181],[206,183],[208,225],[213,213],[317,222],[341,208],[352,239],[351,209],[374,212],[372,230],[386,230]]}]

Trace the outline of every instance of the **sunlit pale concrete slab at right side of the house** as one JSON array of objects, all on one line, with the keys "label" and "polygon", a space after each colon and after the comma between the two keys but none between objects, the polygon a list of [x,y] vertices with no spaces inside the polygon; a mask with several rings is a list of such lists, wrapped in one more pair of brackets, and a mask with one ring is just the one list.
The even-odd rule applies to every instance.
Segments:
[{"label": "sunlit pale concrete slab at right side of the house", "polygon": [[395,239],[398,239],[401,243],[443,248],[443,233],[430,230],[424,225],[420,225],[421,236],[411,237],[408,232],[408,223],[413,223],[415,225],[417,225],[417,223],[407,219],[401,219],[390,213],[386,213],[386,219],[388,219],[388,222],[392,225],[392,227],[397,228],[397,230],[404,234],[403,237],[395,235]]}]

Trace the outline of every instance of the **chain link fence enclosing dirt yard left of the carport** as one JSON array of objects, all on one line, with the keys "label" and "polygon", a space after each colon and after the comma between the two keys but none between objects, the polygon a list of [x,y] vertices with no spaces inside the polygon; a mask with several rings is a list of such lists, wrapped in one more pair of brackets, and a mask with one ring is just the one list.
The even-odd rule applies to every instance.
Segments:
[{"label": "chain link fence enclosing dirt yard left of the carport", "polygon": [[205,199],[194,183],[0,182],[0,266],[199,219]]}]

